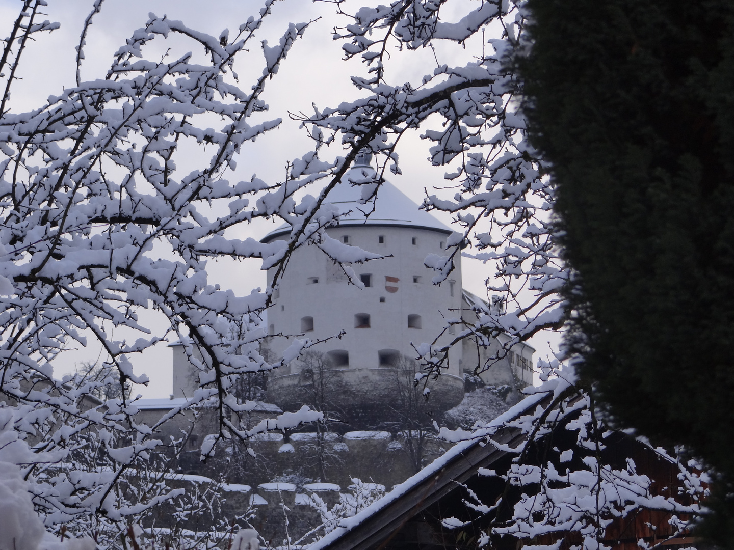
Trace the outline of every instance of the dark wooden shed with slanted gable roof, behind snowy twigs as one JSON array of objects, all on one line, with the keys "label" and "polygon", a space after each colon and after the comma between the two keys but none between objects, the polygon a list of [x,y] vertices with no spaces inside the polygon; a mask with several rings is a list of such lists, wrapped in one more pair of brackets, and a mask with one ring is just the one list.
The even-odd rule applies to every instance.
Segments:
[{"label": "dark wooden shed with slanted gable roof, behind snowy twigs", "polygon": [[[585,440],[586,444],[578,440],[580,426],[576,422],[581,418],[580,415],[583,416],[583,410],[589,407],[589,400],[578,389],[562,378],[555,378],[530,389],[529,393],[529,397],[490,422],[486,428],[471,434],[474,439],[454,445],[431,465],[404,483],[396,485],[393,491],[361,510],[356,516],[341,518],[332,532],[310,544],[308,550],[476,548],[479,546],[478,538],[486,534],[484,529],[487,524],[483,521],[489,518],[488,514],[492,510],[484,505],[473,505],[472,502],[498,502],[498,497],[501,497],[506,500],[506,512],[512,513],[521,499],[526,499],[527,502],[534,499],[532,484],[537,482],[529,485],[526,482],[522,487],[507,485],[505,480],[493,475],[491,470],[506,472],[513,457],[519,457],[518,453],[524,454],[527,449],[523,443],[541,439],[545,440],[543,452],[536,452],[539,449],[531,450],[525,458],[529,466],[550,463],[551,457],[546,452],[552,446],[553,452],[559,453],[554,463],[556,468],[560,467],[558,461],[570,464],[575,461],[576,465],[572,467],[579,467],[592,474],[585,458],[588,458],[589,453],[597,452],[600,455],[595,460],[603,461],[605,469],[610,469],[610,472],[613,469],[623,472],[631,467],[639,467],[641,470],[631,475],[639,475],[641,485],[638,488],[647,487],[644,491],[650,492],[650,498],[637,502],[635,499],[639,495],[636,491],[631,491],[630,495],[622,497],[622,502],[627,505],[636,502],[636,513],[622,514],[617,508],[611,512],[606,510],[604,519],[611,522],[605,523],[602,540],[597,540],[598,543],[614,550],[639,550],[642,542],[650,545],[671,545],[665,546],[669,549],[687,548],[691,542],[695,542],[685,526],[681,529],[672,520],[675,517],[672,516],[675,507],[678,507],[678,513],[696,509],[695,506],[690,507],[694,501],[682,489],[686,483],[683,480],[687,477],[680,477],[682,469],[677,458],[667,455],[659,447],[653,449],[625,433],[606,428],[600,430],[603,433],[601,447],[597,447],[595,451],[589,449],[588,439]],[[537,424],[534,419],[540,423]],[[592,420],[589,415],[581,421],[582,424],[584,422],[597,420]],[[446,432],[445,435],[451,436],[451,432]],[[456,433],[457,437],[469,435]],[[562,449],[565,450],[562,452]],[[570,461],[569,458],[562,458],[567,450],[573,450]],[[486,470],[482,472],[482,469]],[[594,477],[592,474],[592,478]],[[625,475],[619,477],[619,485],[615,485],[617,493],[625,492],[623,485],[627,479]],[[634,483],[638,482],[633,481]],[[699,494],[704,494],[704,488],[700,489]],[[529,495],[526,494],[527,491],[530,491]],[[583,490],[580,494],[583,494]],[[614,505],[614,502],[617,501],[612,497],[607,504]],[[665,505],[661,506],[661,502],[665,502]],[[548,514],[552,516],[558,513],[557,504],[551,505],[555,512],[546,510]],[[577,505],[581,506],[577,508]],[[570,502],[570,508],[574,510],[583,507],[581,497],[578,500],[574,497]],[[495,508],[495,513],[496,510]],[[521,507],[521,510],[526,508]],[[546,516],[546,519],[548,517],[550,516]],[[597,519],[593,510],[587,516],[589,524]],[[506,521],[506,517],[499,518],[499,521]],[[569,523],[566,524],[566,521]],[[548,531],[545,535],[539,533],[538,538],[533,540],[535,548],[573,548],[571,545],[576,545],[581,540],[577,536],[580,532],[575,528],[569,529],[568,526],[578,521],[581,521],[580,518],[569,520],[561,514],[559,522],[551,525],[551,528],[559,529]],[[522,533],[527,540],[528,532]],[[507,532],[506,535],[509,537],[500,533],[500,538],[493,540],[492,546],[506,550],[521,546],[523,537],[515,538],[513,532]]]}]

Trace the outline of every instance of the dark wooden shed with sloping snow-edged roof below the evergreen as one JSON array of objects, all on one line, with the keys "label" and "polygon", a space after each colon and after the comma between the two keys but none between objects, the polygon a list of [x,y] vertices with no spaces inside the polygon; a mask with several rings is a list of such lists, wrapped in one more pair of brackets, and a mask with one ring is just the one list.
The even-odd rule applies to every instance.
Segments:
[{"label": "dark wooden shed with sloping snow-edged roof below the evergreen", "polygon": [[[396,485],[393,491],[382,499],[357,513],[352,518],[343,518],[339,526],[321,540],[309,545],[309,550],[445,550],[446,548],[476,548],[478,539],[487,529],[489,520],[481,511],[473,510],[466,505],[472,491],[480,494],[482,500],[492,505],[498,496],[503,495],[507,502],[519,496],[520,488],[513,488],[514,495],[507,493],[504,482],[497,477],[479,474],[479,469],[496,469],[506,471],[511,458],[517,456],[513,449],[520,447],[528,439],[528,430],[521,429],[517,420],[534,414],[538,407],[546,414],[558,410],[563,397],[567,397],[564,406],[573,406],[581,397],[573,397],[577,390],[570,386],[562,394],[559,392],[540,392],[527,397],[505,414],[498,417],[487,429],[478,430],[475,439],[461,441],[451,447],[445,455],[421,470],[404,483]],[[578,409],[579,411],[581,409]],[[571,417],[564,418],[564,425]],[[653,485],[652,494],[673,496],[677,494],[679,470],[675,461],[661,458],[650,447],[621,432],[607,432],[604,439],[608,446],[604,455],[606,463],[624,464],[632,458],[639,470],[650,474]],[[573,437],[572,437],[573,436]],[[562,440],[566,440],[562,443]],[[562,430],[553,435],[553,444],[573,448],[576,444],[575,433]],[[487,441],[490,439],[490,441]],[[540,441],[540,440],[535,440]],[[577,447],[578,448],[578,447]],[[557,449],[556,449],[557,450]],[[503,460],[504,459],[504,460]],[[542,463],[540,461],[539,463]],[[615,466],[619,467],[619,466]],[[624,466],[622,466],[623,468]],[[492,481],[494,480],[494,481]],[[683,496],[683,499],[686,499]],[[688,502],[687,505],[691,505]],[[506,513],[512,514],[512,505]],[[461,516],[461,528],[451,529],[443,524],[452,516]],[[638,540],[649,543],[661,543],[666,549],[691,546],[694,542],[690,536],[671,538],[675,535],[668,520],[669,510],[639,509],[636,513],[614,518],[606,528],[603,543],[614,550],[639,550]],[[561,550],[581,542],[578,533],[561,533]],[[552,544],[553,538],[544,542]],[[576,539],[579,540],[576,540]],[[669,540],[666,540],[669,538]],[[519,541],[506,536],[501,543],[493,543],[498,550],[515,550]],[[536,541],[537,543],[539,541]]]}]

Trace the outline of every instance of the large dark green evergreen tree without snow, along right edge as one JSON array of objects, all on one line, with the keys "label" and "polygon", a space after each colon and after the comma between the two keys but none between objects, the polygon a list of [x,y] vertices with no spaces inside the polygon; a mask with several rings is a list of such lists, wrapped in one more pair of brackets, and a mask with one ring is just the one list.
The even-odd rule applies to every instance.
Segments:
[{"label": "large dark green evergreen tree without snow, along right edge", "polygon": [[[515,59],[551,163],[578,373],[721,474],[734,534],[734,3],[531,0]],[[522,39],[521,39],[522,40]]]}]

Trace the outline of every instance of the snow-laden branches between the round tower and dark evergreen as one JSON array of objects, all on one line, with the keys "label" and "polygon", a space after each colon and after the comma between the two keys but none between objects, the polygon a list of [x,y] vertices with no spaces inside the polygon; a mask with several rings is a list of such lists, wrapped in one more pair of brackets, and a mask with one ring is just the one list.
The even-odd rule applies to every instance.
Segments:
[{"label": "snow-laden branches between the round tower and dark evergreen", "polygon": [[[377,155],[378,193],[388,165],[400,172],[401,136],[421,130],[429,160],[447,167],[446,187],[426,189],[421,208],[451,213],[459,235],[451,246],[447,243],[445,256],[426,258],[426,266],[435,270],[433,284],[451,274],[457,254],[493,267],[485,299],[502,307],[473,304],[457,311],[452,322],[461,331],[451,345],[464,338],[486,345],[488,338],[509,335],[477,367],[486,370],[513,345],[544,329],[559,329],[565,319],[559,289],[568,273],[555,246],[553,188],[542,159],[527,142],[522,89],[508,62],[520,48],[526,25],[522,3],[482,1],[454,22],[443,17],[450,0],[401,0],[355,12],[346,12],[343,1],[333,4],[349,21],[336,29],[335,40],[347,41],[346,59],[361,56],[367,67],[366,76],[352,77],[364,93],[335,109],[315,106],[314,114],[291,117],[309,128],[316,150],[339,137],[350,155],[363,148]],[[491,46],[485,49],[487,36]],[[437,66],[420,82],[390,83],[390,55],[439,43],[463,45],[468,52],[463,65],[457,64],[461,56],[452,56],[449,65],[435,53]],[[341,177],[333,168],[324,175],[331,178],[330,186]],[[448,361],[449,345],[437,342],[438,337],[421,350],[424,367],[434,374]]]}]

